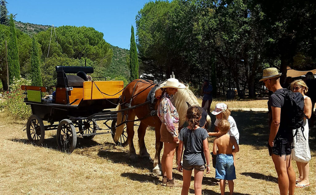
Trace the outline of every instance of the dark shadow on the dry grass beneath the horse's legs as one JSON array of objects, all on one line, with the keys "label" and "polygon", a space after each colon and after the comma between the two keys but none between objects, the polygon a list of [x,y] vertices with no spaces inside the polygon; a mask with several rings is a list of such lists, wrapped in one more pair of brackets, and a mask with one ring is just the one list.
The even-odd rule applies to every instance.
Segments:
[{"label": "dark shadow on the dry grass beneath the horse's legs", "polygon": [[128,158],[128,154],[125,152],[112,152],[108,150],[99,150],[98,156],[100,158],[111,160],[113,163],[128,164],[129,166],[148,169],[152,171],[153,162],[148,158],[138,157],[135,161]]}]

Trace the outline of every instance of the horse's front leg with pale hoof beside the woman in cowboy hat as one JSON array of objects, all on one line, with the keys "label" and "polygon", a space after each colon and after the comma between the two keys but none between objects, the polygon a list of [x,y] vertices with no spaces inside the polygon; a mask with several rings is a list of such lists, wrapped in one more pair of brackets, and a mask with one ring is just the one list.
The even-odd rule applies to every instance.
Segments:
[{"label": "horse's front leg with pale hoof beside the woman in cowboy hat", "polygon": [[163,142],[160,142],[160,126],[161,126],[161,124],[155,126],[155,135],[156,135],[155,149],[156,149],[156,153],[155,153],[155,158],[154,158],[153,173],[156,175],[161,175],[161,173],[162,173],[160,153],[162,150]]}]

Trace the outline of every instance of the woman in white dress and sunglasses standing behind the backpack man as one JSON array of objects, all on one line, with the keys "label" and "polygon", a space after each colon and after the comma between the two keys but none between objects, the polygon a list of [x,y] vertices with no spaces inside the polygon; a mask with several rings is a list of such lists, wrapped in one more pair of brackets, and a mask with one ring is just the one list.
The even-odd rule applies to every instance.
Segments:
[{"label": "woman in white dress and sunglasses standing behind the backpack man", "polygon": [[[291,83],[291,90],[293,92],[300,92],[304,96],[304,131],[298,130],[297,136],[294,137],[294,148],[292,149],[292,158],[296,161],[300,176],[296,178],[296,187],[304,188],[309,185],[308,172],[309,172],[309,160],[311,160],[311,153],[308,145],[308,123],[307,118],[312,115],[312,101],[311,98],[305,96],[307,93],[307,85],[303,80],[296,80]],[[295,135],[293,130],[293,135]]]}]

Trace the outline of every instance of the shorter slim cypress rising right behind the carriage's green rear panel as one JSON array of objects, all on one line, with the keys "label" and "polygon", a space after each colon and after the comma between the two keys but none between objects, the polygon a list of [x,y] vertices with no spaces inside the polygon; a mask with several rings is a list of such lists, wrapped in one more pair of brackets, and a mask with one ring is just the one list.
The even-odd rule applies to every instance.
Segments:
[{"label": "shorter slim cypress rising right behind the carriage's green rear panel", "polygon": [[42,86],[42,77],[40,75],[40,60],[38,56],[37,41],[34,36],[32,39],[32,50],[31,50],[31,76],[33,86]]}]

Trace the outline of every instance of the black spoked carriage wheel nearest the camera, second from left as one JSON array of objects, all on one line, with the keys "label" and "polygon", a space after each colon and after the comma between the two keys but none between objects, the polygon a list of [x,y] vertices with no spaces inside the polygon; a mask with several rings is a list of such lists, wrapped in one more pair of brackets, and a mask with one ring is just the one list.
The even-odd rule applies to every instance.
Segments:
[{"label": "black spoked carriage wheel nearest the camera, second from left", "polygon": [[72,153],[76,148],[77,133],[74,124],[68,119],[62,120],[57,128],[57,145],[62,152]]}]

